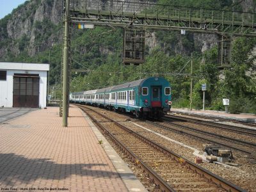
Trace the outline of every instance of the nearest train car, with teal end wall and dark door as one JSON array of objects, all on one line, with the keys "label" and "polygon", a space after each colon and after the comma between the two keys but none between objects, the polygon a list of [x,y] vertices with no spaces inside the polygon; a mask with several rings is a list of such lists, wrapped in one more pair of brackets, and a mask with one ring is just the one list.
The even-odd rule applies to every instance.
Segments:
[{"label": "nearest train car, with teal end wall and dark door", "polygon": [[170,83],[163,77],[149,77],[114,86],[114,108],[134,113],[137,117],[161,118],[170,111],[172,95]]}]

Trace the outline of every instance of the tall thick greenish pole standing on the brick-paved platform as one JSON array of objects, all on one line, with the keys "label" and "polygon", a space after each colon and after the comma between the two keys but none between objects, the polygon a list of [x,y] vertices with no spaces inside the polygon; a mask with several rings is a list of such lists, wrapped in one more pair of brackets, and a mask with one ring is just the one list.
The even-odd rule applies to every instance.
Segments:
[{"label": "tall thick greenish pole standing on the brick-paved platform", "polygon": [[66,0],[65,10],[65,33],[64,33],[64,47],[63,47],[63,92],[62,92],[62,127],[68,126],[68,26],[69,26],[69,0]]}]

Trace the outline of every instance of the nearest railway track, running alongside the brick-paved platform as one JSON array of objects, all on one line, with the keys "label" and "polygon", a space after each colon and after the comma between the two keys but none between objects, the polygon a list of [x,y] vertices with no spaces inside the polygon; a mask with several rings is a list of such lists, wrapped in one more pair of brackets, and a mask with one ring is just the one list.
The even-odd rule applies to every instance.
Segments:
[{"label": "nearest railway track, running alongside the brick-paved platform", "polygon": [[91,108],[79,108],[108,132],[111,140],[129,154],[162,191],[244,191],[111,118]]}]

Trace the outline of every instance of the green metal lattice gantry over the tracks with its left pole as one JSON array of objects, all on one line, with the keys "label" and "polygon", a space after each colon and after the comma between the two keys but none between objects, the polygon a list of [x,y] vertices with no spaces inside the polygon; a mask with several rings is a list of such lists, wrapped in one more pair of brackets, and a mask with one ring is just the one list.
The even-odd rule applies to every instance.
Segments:
[{"label": "green metal lattice gantry over the tracks with its left pole", "polygon": [[[65,28],[70,23],[94,24],[141,30],[186,30],[196,33],[211,33],[219,36],[219,62],[221,67],[229,65],[231,40],[234,36],[256,36],[256,14],[209,10],[182,6],[156,4],[154,1],[108,1],[108,0],[65,0]],[[66,29],[65,29],[66,32]],[[67,119],[68,82],[64,65],[68,66],[68,29],[63,48],[63,118]],[[67,46],[66,46],[67,45]],[[65,52],[67,53],[65,54]],[[67,62],[67,63],[65,63]],[[65,91],[67,90],[67,92]],[[66,97],[66,99],[64,98]],[[68,107],[67,107],[68,108]],[[64,114],[65,113],[65,114]],[[67,126],[63,120],[63,125]]]}]

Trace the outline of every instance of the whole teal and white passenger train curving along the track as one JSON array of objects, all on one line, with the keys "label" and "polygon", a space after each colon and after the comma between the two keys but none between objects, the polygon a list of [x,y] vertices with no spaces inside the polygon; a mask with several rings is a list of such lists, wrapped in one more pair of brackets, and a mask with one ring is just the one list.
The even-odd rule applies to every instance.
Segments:
[{"label": "whole teal and white passenger train curving along the track", "polygon": [[172,105],[170,83],[149,77],[99,90],[70,93],[70,103],[131,112],[137,118],[161,118]]}]

